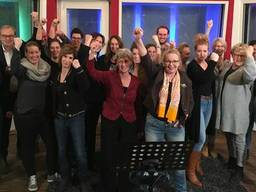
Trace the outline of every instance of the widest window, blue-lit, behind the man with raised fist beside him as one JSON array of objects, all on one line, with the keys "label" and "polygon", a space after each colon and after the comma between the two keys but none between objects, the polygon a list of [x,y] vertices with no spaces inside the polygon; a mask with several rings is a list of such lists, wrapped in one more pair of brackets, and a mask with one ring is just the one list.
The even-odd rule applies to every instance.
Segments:
[{"label": "widest window, blue-lit, behind the man with raised fist beside him", "polygon": [[209,39],[212,42],[222,36],[223,4],[177,4],[177,3],[122,3],[122,38],[125,46],[133,41],[135,27],[144,29],[144,41],[149,43],[156,28],[166,25],[170,29],[169,40],[176,44],[187,42],[193,45],[196,33],[205,33],[206,23],[213,19],[214,26]]}]

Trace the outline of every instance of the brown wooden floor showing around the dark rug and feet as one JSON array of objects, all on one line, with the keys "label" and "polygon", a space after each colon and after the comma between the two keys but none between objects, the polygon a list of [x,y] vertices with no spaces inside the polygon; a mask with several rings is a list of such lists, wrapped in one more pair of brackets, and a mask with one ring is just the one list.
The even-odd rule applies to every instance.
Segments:
[{"label": "brown wooden floor showing around the dark rug and feet", "polygon": [[[0,192],[26,191],[26,177],[21,162],[16,158],[16,135],[10,136],[10,155],[8,157],[9,173],[0,177]],[[224,158],[227,158],[225,138],[222,134],[217,136],[216,149]],[[39,176],[39,191],[47,191],[46,172],[44,165],[44,149],[39,147],[37,153],[37,167]],[[207,172],[205,172],[207,174]],[[256,192],[256,133],[253,133],[253,144],[250,159],[246,162],[245,179],[243,185],[248,192]]]}]

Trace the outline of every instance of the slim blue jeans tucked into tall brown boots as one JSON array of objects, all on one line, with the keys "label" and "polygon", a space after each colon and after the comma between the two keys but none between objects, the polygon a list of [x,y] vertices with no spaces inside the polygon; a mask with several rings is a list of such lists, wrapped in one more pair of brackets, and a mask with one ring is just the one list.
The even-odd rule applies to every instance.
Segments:
[{"label": "slim blue jeans tucked into tall brown boots", "polygon": [[201,99],[200,106],[200,135],[193,151],[201,151],[206,140],[206,128],[212,115],[212,99]]}]

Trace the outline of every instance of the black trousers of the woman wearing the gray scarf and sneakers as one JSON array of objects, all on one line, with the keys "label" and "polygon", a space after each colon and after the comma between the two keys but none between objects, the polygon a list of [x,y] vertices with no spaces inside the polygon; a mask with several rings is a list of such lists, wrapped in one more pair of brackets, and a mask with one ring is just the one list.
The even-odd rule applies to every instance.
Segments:
[{"label": "black trousers of the woman wearing the gray scarf and sneakers", "polygon": [[21,159],[27,176],[35,175],[35,143],[40,135],[46,146],[48,174],[56,171],[57,152],[53,127],[49,127],[43,113],[16,114],[15,125],[21,144]]}]

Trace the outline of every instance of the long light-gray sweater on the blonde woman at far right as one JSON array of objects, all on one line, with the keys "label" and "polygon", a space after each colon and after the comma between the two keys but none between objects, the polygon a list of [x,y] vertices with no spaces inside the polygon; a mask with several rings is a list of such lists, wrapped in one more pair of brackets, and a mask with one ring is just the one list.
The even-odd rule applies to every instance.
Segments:
[{"label": "long light-gray sweater on the blonde woman at far right", "polygon": [[250,87],[256,79],[256,64],[253,58],[247,58],[245,64],[231,73],[223,85],[228,70],[224,69],[219,76],[222,94],[218,97],[216,128],[245,134],[249,125]]}]

